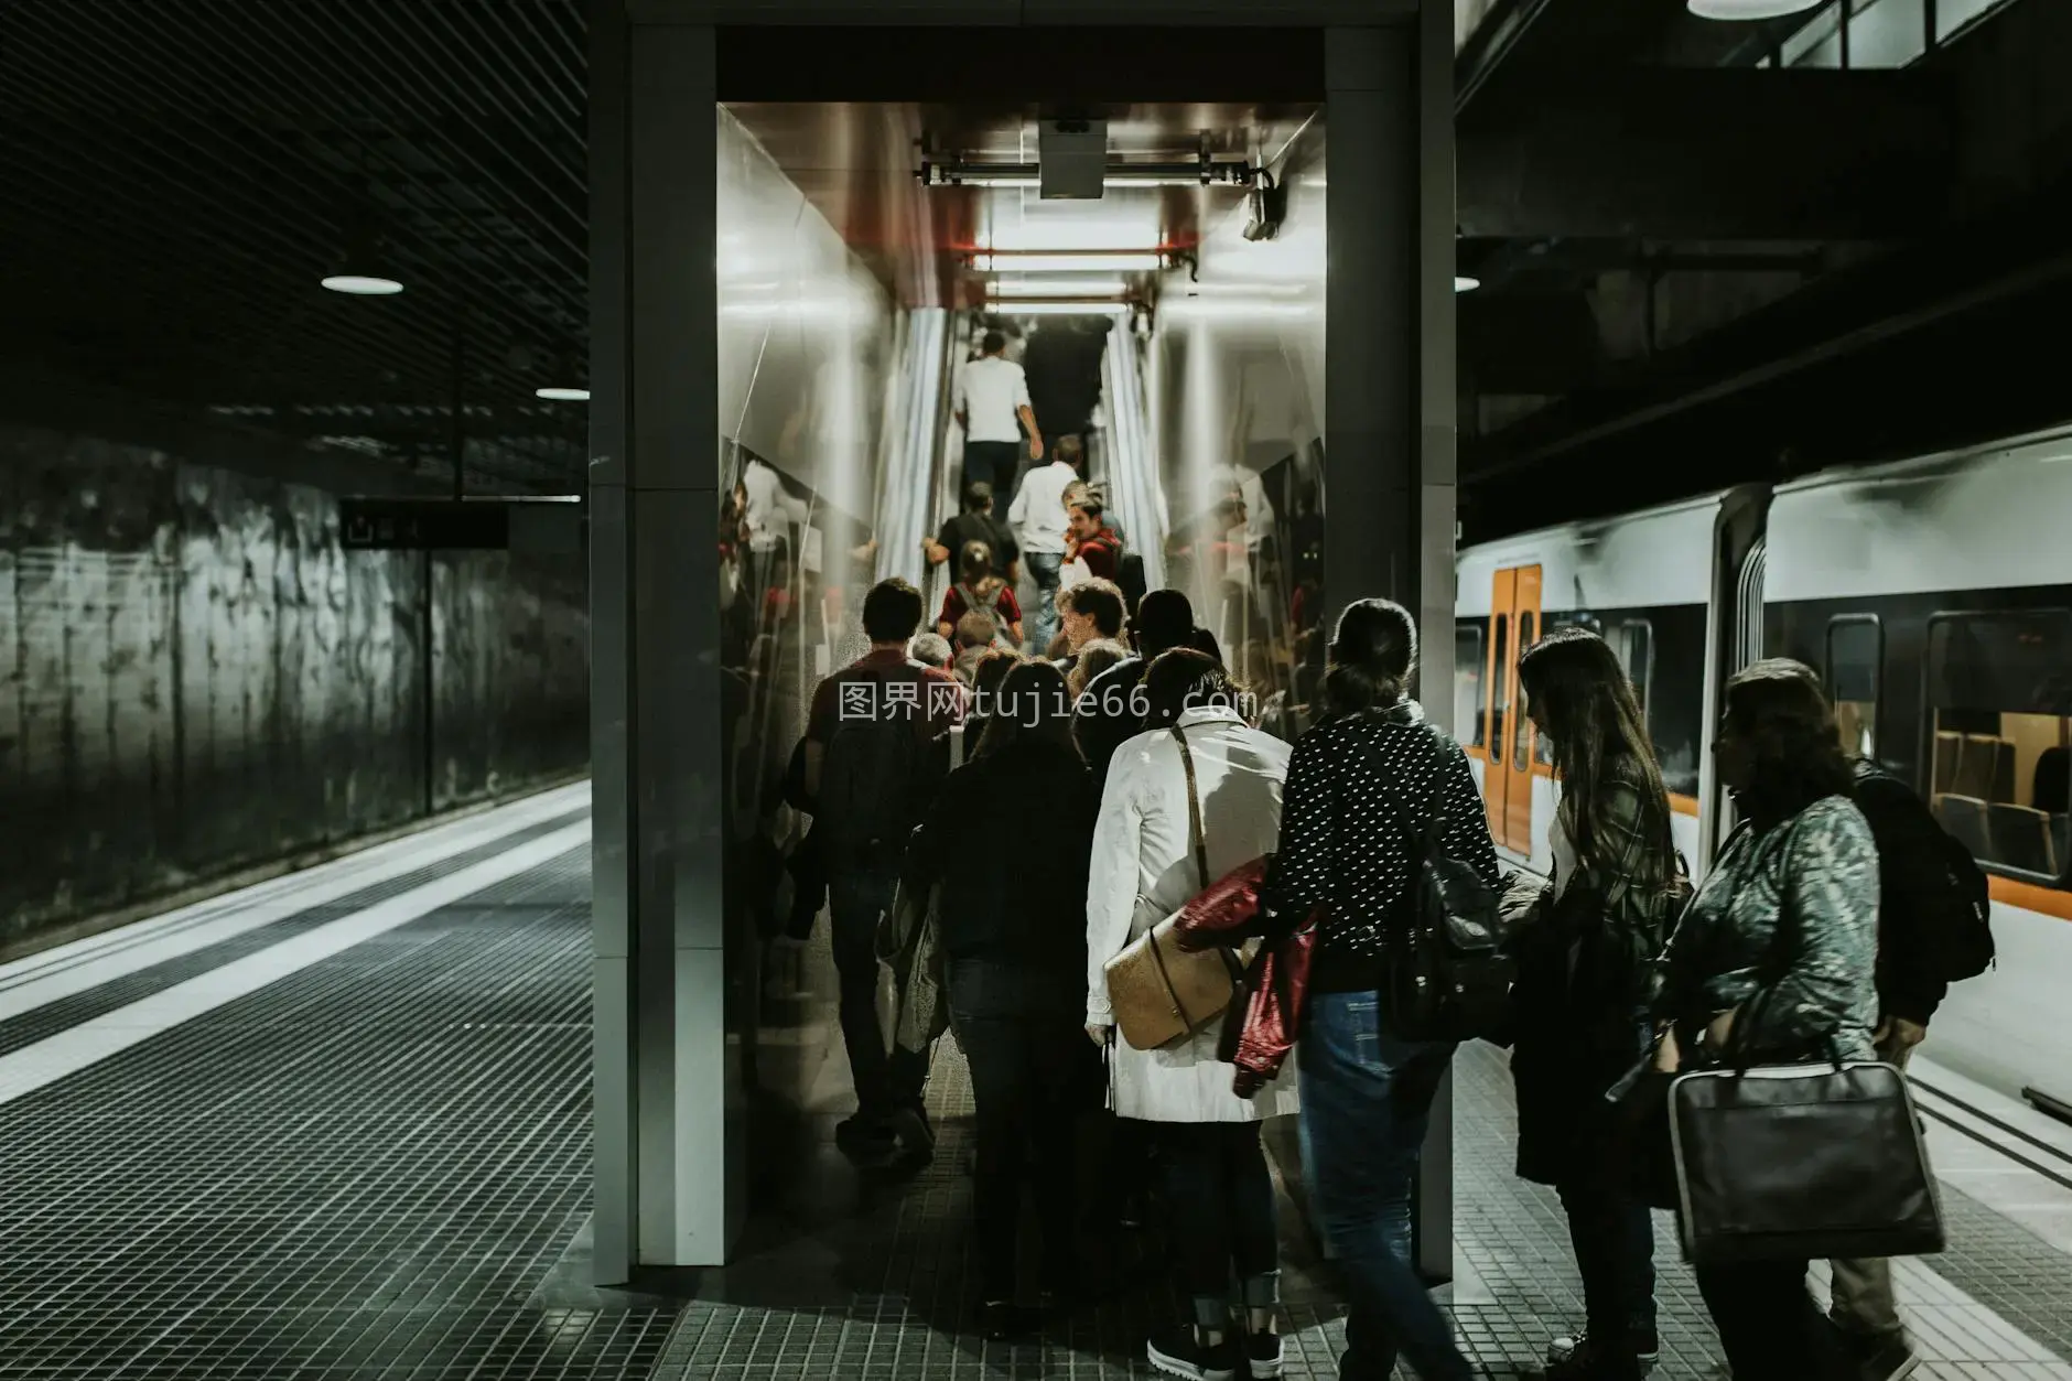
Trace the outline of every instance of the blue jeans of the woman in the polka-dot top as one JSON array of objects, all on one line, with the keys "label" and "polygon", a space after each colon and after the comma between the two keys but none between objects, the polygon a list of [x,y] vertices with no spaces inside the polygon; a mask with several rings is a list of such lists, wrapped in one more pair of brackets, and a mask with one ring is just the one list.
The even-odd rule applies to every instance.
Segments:
[{"label": "blue jeans of the woman in the polka-dot top", "polygon": [[1397,1352],[1423,1381],[1473,1373],[1411,1263],[1411,1194],[1452,1043],[1399,1041],[1374,993],[1314,993],[1303,1024],[1301,1145],[1345,1275],[1345,1381],[1380,1381]]}]

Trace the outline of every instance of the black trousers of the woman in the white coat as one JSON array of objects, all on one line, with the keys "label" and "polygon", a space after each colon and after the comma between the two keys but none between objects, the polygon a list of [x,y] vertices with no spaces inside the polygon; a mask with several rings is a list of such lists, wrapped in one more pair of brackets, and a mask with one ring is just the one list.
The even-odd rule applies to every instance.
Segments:
[{"label": "black trousers of the woman in the white coat", "polygon": [[[1167,1238],[1183,1294],[1231,1298],[1237,1279],[1280,1269],[1274,1178],[1258,1122],[1156,1122]],[[1210,1323],[1196,1319],[1196,1323]]]}]

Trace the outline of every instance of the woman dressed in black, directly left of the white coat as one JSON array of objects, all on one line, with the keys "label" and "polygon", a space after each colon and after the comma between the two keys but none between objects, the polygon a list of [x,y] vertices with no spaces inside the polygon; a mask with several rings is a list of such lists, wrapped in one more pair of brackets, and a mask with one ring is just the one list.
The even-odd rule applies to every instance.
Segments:
[{"label": "woman dressed in black, directly left of the white coat", "polygon": [[[982,1327],[1005,1337],[1028,1323],[1015,1279],[1024,1190],[1040,1209],[1044,1290],[1069,1292],[1080,1275],[1071,1165],[1073,1120],[1094,1078],[1080,997],[1098,796],[1071,740],[1063,672],[1013,664],[988,709],[972,761],[949,773],[908,846],[908,883],[941,883],[951,1028],[978,1105]],[[1044,885],[999,867],[1001,802],[1019,811],[1015,848],[1042,861]]]}]

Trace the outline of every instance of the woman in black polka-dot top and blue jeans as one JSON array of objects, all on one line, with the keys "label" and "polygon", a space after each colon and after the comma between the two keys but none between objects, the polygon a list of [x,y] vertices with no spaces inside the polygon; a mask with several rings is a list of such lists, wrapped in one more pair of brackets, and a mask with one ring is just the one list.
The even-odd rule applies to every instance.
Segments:
[{"label": "woman in black polka-dot top and blue jeans", "polygon": [[1380,987],[1413,914],[1409,829],[1432,802],[1446,854],[1492,892],[1500,877],[1467,755],[1409,695],[1415,661],[1403,605],[1361,599],[1339,616],[1326,717],[1295,744],[1262,898],[1283,925],[1320,914],[1295,1055],[1305,1178],[1347,1281],[1343,1381],[1388,1377],[1399,1352],[1423,1381],[1471,1375],[1411,1265],[1417,1151],[1455,1043],[1399,1037]]}]

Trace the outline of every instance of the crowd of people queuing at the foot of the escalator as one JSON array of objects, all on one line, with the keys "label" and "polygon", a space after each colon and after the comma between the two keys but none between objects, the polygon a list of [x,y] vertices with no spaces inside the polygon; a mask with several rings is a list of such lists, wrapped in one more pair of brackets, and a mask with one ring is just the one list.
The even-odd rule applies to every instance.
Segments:
[{"label": "crowd of people queuing at the foot of the escalator", "polygon": [[[806,792],[860,1103],[839,1145],[868,1167],[932,1151],[926,1053],[887,1053],[872,954],[895,892],[932,894],[976,1099],[988,1335],[1040,1319],[1017,1279],[1024,1194],[1040,1209],[1044,1298],[1075,1296],[1084,1207],[1106,1199],[1069,1169],[1073,1128],[1094,1118],[1111,1128],[1106,1186],[1146,1172],[1162,1205],[1183,1306],[1152,1329],[1150,1362],[1193,1381],[1278,1375],[1280,1238],[1260,1128],[1297,1116],[1349,1306],[1339,1375],[1378,1381],[1399,1358],[1428,1381],[1471,1375],[1411,1257],[1419,1147],[1457,1043],[1401,1035],[1384,970],[1421,885],[1417,836],[1492,892],[1517,894],[1519,877],[1502,875],[1467,755],[1411,697],[1411,616],[1386,599],[1341,614],[1316,722],[1289,744],[1258,726],[1181,591],[1150,591],[1133,614],[1104,579],[1061,591],[1061,641],[1042,647],[1055,657],[999,630],[980,639],[970,624],[984,610],[1013,618],[990,585],[1005,579],[986,564],[995,552],[963,543],[966,579],[924,639],[920,593],[876,585],[862,608],[870,653],[814,695]],[[1562,796],[1554,877],[1508,941],[1517,979],[1496,1039],[1517,1084],[1517,1172],[1556,1190],[1585,1298],[1585,1319],[1550,1340],[1546,1375],[1629,1379],[1660,1352],[1653,1228],[1610,1091],[1649,1060],[1695,1068],[1728,1045],[1904,1062],[1941,997],[1908,912],[1908,894],[1933,892],[1908,832],[1933,821],[1842,753],[1809,668],[1759,661],[1728,684],[1718,732],[1745,823],[1693,896],[1614,651],[1556,628],[1519,676]],[[1042,885],[1001,867],[1003,809]],[[1109,964],[1258,858],[1270,858],[1266,925],[1307,919],[1316,948],[1293,1062],[1241,1089],[1212,1026],[1156,1049],[1119,1039]],[[1805,1259],[1697,1269],[1736,1377],[1888,1381],[1912,1366],[1881,1261],[1836,1263],[1830,1317],[1805,1273]]]}]

